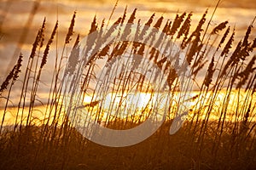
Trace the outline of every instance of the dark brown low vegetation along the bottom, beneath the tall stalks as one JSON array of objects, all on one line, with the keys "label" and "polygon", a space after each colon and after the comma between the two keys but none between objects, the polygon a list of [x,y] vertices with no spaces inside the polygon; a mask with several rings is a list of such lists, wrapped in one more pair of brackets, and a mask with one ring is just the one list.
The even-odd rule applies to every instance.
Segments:
[{"label": "dark brown low vegetation along the bottom, beneath the tall stalks", "polygon": [[[255,139],[225,131],[222,139],[208,127],[201,142],[191,135],[187,122],[169,135],[170,122],[140,144],[111,148],[84,139],[73,128],[56,129],[42,137],[43,127],[24,127],[4,133],[1,139],[1,169],[253,169]],[[216,126],[217,122],[212,122]],[[47,127],[48,132],[52,132]]]}]

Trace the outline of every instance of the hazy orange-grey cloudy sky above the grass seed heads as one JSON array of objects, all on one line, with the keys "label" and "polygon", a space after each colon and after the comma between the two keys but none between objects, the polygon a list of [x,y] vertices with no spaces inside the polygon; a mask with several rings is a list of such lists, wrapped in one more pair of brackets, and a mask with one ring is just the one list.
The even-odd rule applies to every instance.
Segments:
[{"label": "hazy orange-grey cloudy sky above the grass seed heads", "polygon": [[[156,13],[156,18],[163,15],[165,19],[174,20],[175,14],[184,11],[192,11],[192,21],[195,23],[201,19],[201,15],[209,8],[207,19],[210,18],[213,8],[218,1],[208,0],[120,0],[118,7],[113,14],[112,20],[116,20],[123,14],[125,5],[128,6],[128,17],[134,8],[137,10],[137,19],[141,18],[142,23],[148,20],[152,13]],[[51,51],[48,57],[48,63],[44,67],[42,82],[39,87],[42,96],[47,94],[47,87],[50,82],[50,71],[54,65],[55,55],[61,54],[70,20],[73,11],[77,11],[76,23],[74,27],[75,35],[80,34],[81,38],[88,34],[90,22],[96,15],[97,21],[101,22],[103,18],[108,20],[109,15],[115,4],[114,0],[1,0],[0,3],[0,83],[2,83],[13,67],[20,52],[24,54],[22,71],[25,72],[26,59],[28,58],[32,43],[35,39],[38,28],[42,25],[46,17],[46,37],[48,41],[55,21],[59,20],[58,41],[50,47]],[[37,6],[35,14],[32,14],[33,8]],[[256,15],[256,0],[223,0],[214,15],[211,25],[217,26],[220,22],[228,20],[232,28],[236,26],[236,39],[240,39],[246,32],[247,26],[250,25]],[[255,37],[255,31],[253,31]],[[25,38],[21,38],[21,37]],[[75,37],[73,37],[74,41]],[[46,43],[46,41],[44,43]],[[68,48],[73,46],[73,41]],[[58,51],[56,50],[58,47]],[[42,52],[43,53],[43,52]],[[68,54],[68,50],[67,50]],[[20,76],[22,78],[22,75]],[[15,86],[19,86],[17,82]],[[43,87],[45,86],[45,88]],[[16,88],[15,88],[16,89]],[[13,93],[19,96],[19,91]],[[44,96],[45,97],[45,96]],[[44,98],[42,97],[42,98]],[[44,99],[43,99],[44,100]]]}]

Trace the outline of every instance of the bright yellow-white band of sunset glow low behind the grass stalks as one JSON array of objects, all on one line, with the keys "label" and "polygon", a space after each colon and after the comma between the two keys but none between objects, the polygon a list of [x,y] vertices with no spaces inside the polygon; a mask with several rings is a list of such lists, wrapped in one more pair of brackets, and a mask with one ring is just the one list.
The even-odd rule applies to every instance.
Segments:
[{"label": "bright yellow-white band of sunset glow low behind the grass stalks", "polygon": [[[187,120],[189,121],[191,117],[195,116],[198,112],[198,110],[201,110],[199,115],[200,119],[204,119],[207,116],[207,105],[209,104],[211,99],[211,92],[208,92],[207,94],[201,94],[198,96],[200,92],[192,92],[191,93],[191,99],[189,101],[186,101],[186,106],[188,106],[189,110],[189,116],[187,117]],[[239,94],[239,98],[238,98]],[[163,112],[166,111],[164,108],[166,105],[172,105],[171,110],[167,111],[167,117],[173,118],[174,112],[177,109],[177,99],[179,98],[179,94],[173,94],[172,99],[168,99],[166,94],[146,94],[146,93],[134,93],[134,94],[124,94],[123,96],[115,93],[107,94],[105,99],[102,99],[99,101],[96,105],[90,106],[90,104],[94,101],[92,100],[92,96],[86,95],[84,96],[84,109],[93,111],[94,113],[98,113],[99,108],[102,108],[102,121],[106,121],[108,115],[114,116],[119,119],[131,119],[131,117],[141,117],[144,114],[144,117],[146,118],[148,114],[150,114],[150,110],[154,107],[156,99],[160,97],[160,102],[158,107],[158,111],[160,112],[160,116],[162,116]],[[210,120],[217,121],[220,114],[223,112],[224,109],[223,102],[225,99],[226,91],[221,91],[216,96],[216,99],[214,101],[214,106],[212,108],[212,111],[210,113]],[[194,99],[195,98],[195,99]],[[203,99],[205,99],[205,103],[203,102]],[[239,99],[239,100],[238,100]],[[249,102],[252,99],[252,97],[248,97],[246,93],[244,92],[238,92],[236,90],[232,91],[230,94],[230,99],[228,102],[227,107],[227,114],[225,116],[225,120],[229,122],[235,122],[235,121],[241,121],[243,116],[241,113],[245,112],[247,108],[247,105],[249,105]],[[252,104],[255,105],[255,94],[253,94]],[[172,101],[172,104],[168,104],[168,101]],[[201,102],[204,103],[204,105],[201,105]],[[200,106],[201,105],[201,106]],[[15,113],[17,111],[17,108],[8,108],[6,111],[6,117],[4,122],[5,125],[14,125],[15,124]],[[22,124],[26,124],[26,116],[29,109],[26,107],[23,113],[23,118],[21,117],[22,111],[20,110],[18,113],[18,120],[22,118]],[[149,112],[148,112],[149,111]],[[1,116],[3,115],[3,109],[0,110]],[[46,113],[46,115],[44,115]],[[64,111],[60,111],[59,120],[63,120],[63,116],[65,115]],[[255,122],[256,117],[255,113],[253,112],[250,114],[248,120]],[[49,110],[46,111],[45,106],[36,106],[34,110],[32,111],[32,122],[35,125],[40,125],[45,123],[45,118],[49,117],[49,122],[53,121],[53,114],[49,114]],[[1,117],[0,117],[1,118]],[[18,122],[19,122],[18,121]],[[60,122],[61,123],[61,122]]]}]

